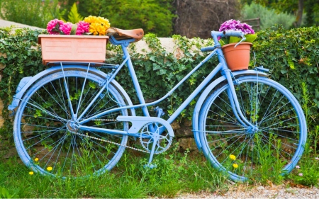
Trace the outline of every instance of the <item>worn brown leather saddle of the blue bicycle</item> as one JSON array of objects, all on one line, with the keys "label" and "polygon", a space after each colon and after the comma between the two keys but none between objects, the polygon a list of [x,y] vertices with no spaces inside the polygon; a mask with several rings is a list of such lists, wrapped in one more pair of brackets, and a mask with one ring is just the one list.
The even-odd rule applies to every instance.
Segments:
[{"label": "worn brown leather saddle of the blue bicycle", "polygon": [[106,35],[113,35],[116,40],[135,39],[134,42],[141,40],[144,36],[144,30],[142,28],[133,30],[122,30],[120,28],[108,28]]}]

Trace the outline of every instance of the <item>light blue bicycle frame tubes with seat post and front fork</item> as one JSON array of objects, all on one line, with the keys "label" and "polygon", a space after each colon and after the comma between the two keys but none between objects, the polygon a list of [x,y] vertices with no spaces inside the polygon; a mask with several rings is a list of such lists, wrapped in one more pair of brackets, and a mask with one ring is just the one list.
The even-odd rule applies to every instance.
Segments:
[{"label": "light blue bicycle frame tubes with seat post and front fork", "polygon": [[[184,101],[184,103],[181,104],[181,106],[179,106],[179,108],[169,117],[168,120],[166,120],[167,123],[172,123],[177,117],[178,115],[181,113],[182,110],[184,110],[184,108],[186,108],[186,106],[189,105],[189,103],[198,95],[198,93],[200,93],[207,85],[208,83],[213,79],[214,76],[216,76],[216,74],[218,72],[222,72],[222,75],[225,76],[225,78],[228,81],[228,84],[230,84],[230,91],[229,91],[229,96],[230,96],[230,103],[233,107],[234,112],[237,110],[237,119],[240,121],[240,123],[242,123],[243,125],[250,125],[251,127],[253,127],[253,125],[242,115],[241,110],[238,106],[238,101],[237,101],[237,96],[235,93],[235,89],[234,89],[234,85],[233,85],[233,78],[231,76],[231,72],[230,69],[228,69],[227,64],[225,63],[225,60],[223,58],[223,52],[220,48],[219,42],[217,40],[217,36],[213,34],[213,39],[215,40],[215,43],[218,43],[218,45],[215,45],[213,48],[213,52],[211,52],[205,59],[203,59],[202,62],[200,62],[194,69],[191,70],[191,72],[189,72],[189,74],[187,74],[186,76],[184,76],[183,79],[181,79],[181,81],[179,81],[179,83],[177,85],[174,86],[173,89],[171,89],[171,91],[169,91],[166,95],[164,95],[162,98],[159,98],[157,101],[151,102],[151,103],[145,103],[142,91],[140,89],[140,84],[138,83],[138,78],[135,74],[135,70],[133,67],[133,64],[131,62],[130,59],[130,55],[127,51],[127,47],[128,44],[130,42],[130,40],[122,40],[122,41],[118,41],[115,40],[113,38],[113,36],[111,36],[110,41],[112,42],[113,45],[121,45],[122,50],[123,50],[123,62],[121,65],[119,65],[119,67],[116,69],[115,72],[113,72],[113,74],[111,74],[110,78],[107,79],[106,84],[104,84],[104,86],[101,88],[100,93],[106,89],[106,86],[110,83],[110,81],[112,79],[114,79],[114,77],[116,76],[116,74],[118,74],[118,72],[121,70],[121,68],[126,64],[128,67],[128,71],[130,72],[130,76],[133,80],[133,86],[135,88],[136,94],[138,96],[138,99],[140,101],[140,104],[138,105],[134,105],[134,106],[122,106],[120,108],[113,108],[111,110],[106,110],[103,113],[99,113],[97,115],[94,115],[91,118],[86,118],[84,120],[82,120],[83,115],[86,113],[87,110],[89,110],[89,108],[94,104],[94,101],[96,101],[96,98],[99,97],[98,93],[96,95],[96,98],[94,98],[93,101],[91,101],[91,103],[89,104],[89,106],[86,108],[86,110],[84,110],[84,112],[82,113],[82,115],[79,116],[79,118],[77,118],[77,120],[79,121],[79,129],[82,130],[94,130],[94,131],[99,131],[99,132],[106,132],[106,133],[111,133],[111,134],[121,134],[121,135],[130,135],[133,137],[140,137],[140,134],[138,132],[135,133],[128,133],[125,131],[119,131],[119,130],[108,130],[108,129],[102,129],[102,128],[97,128],[97,127],[86,127],[84,125],[84,123],[88,122],[89,120],[94,120],[96,118],[99,118],[103,115],[106,115],[108,113],[112,113],[114,111],[118,111],[118,110],[122,110],[124,108],[142,108],[142,112],[145,115],[145,117],[150,117],[150,113],[147,110],[147,106],[153,106],[161,101],[163,101],[165,98],[167,98],[169,95],[171,95],[179,86],[181,86],[181,84],[184,83],[184,81],[186,81],[186,79],[189,78],[189,76],[191,76],[191,74],[194,74],[194,72],[196,72],[201,66],[203,66],[203,64],[205,64],[208,59],[211,59],[211,57],[213,57],[214,55],[218,55],[218,59],[219,59],[219,64],[213,69],[213,71],[208,74],[208,76],[206,76],[206,78],[201,82],[201,84],[193,91],[193,93],[191,93],[191,95],[186,98],[186,100]],[[131,117],[132,118],[132,117]],[[123,118],[121,118],[123,121],[125,121]],[[145,118],[138,118],[138,121],[142,121],[145,120]],[[132,122],[132,121],[131,121]],[[139,126],[142,127],[142,125],[145,125],[145,123],[140,124]],[[139,130],[139,129],[138,129]],[[174,135],[173,135],[174,136]]]}]

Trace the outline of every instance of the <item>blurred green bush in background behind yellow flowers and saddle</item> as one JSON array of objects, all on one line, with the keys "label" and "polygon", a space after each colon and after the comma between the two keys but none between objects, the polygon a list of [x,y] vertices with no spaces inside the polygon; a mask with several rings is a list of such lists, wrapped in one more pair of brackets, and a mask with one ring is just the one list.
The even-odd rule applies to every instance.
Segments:
[{"label": "blurred green bush in background behind yellow flowers and saddle", "polygon": [[[78,3],[79,13],[86,16],[108,18],[112,27],[121,29],[143,28],[145,33],[156,33],[158,37],[168,37],[173,32],[172,0],[62,0],[63,8],[69,10]],[[120,3],[121,2],[121,3]]]}]

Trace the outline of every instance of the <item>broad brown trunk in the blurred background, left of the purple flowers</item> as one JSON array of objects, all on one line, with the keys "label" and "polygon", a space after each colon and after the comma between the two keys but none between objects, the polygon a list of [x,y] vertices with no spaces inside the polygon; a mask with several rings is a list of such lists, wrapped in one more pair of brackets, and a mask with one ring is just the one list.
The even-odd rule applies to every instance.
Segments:
[{"label": "broad brown trunk in the blurred background, left of the purple flowers", "polygon": [[211,38],[211,31],[239,16],[237,0],[175,0],[174,34],[187,38]]}]

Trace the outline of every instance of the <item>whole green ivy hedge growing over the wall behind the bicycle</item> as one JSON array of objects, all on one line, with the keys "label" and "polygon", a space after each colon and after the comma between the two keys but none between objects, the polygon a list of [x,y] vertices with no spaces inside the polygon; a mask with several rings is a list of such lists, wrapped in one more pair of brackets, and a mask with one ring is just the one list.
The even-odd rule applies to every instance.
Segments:
[{"label": "whole green ivy hedge growing over the wall behind the bicycle", "polygon": [[[18,82],[24,76],[34,76],[43,71],[38,35],[45,30],[23,28],[13,31],[12,28],[0,28],[0,98],[4,102],[2,115],[4,126],[0,129],[2,137],[10,137],[12,118],[7,110],[11,103]],[[212,40],[200,38],[187,39],[174,35],[174,52],[167,52],[159,38],[153,34],[145,35],[149,51],[136,52],[135,45],[130,46],[135,72],[148,101],[161,98],[177,84],[196,64],[201,62],[205,54],[200,48],[211,45]],[[118,63],[122,59],[121,49],[108,44],[106,62]],[[271,78],[286,86],[300,101],[306,113],[309,132],[318,130],[319,118],[319,28],[295,28],[284,30],[276,26],[276,30],[267,29],[258,33],[253,45],[255,59],[250,67],[263,65],[270,69]],[[177,59],[179,58],[179,59]],[[201,70],[192,75],[177,92],[159,104],[171,114],[186,96],[201,82],[201,79],[216,66],[217,59],[211,59]],[[117,76],[118,82],[136,101],[131,89],[132,84],[128,72],[123,70]],[[191,102],[179,120],[190,119],[196,100]]]}]

